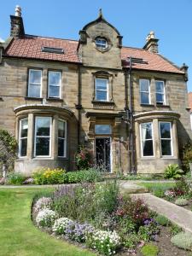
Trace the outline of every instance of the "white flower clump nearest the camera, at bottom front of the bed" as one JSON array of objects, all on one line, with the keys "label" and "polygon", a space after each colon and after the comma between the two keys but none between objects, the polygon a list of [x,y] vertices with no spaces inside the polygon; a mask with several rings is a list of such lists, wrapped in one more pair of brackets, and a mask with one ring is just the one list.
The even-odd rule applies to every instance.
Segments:
[{"label": "white flower clump nearest the camera, at bottom front of the bed", "polygon": [[112,255],[120,247],[120,237],[115,231],[96,230],[86,238],[86,244],[104,255]]}]

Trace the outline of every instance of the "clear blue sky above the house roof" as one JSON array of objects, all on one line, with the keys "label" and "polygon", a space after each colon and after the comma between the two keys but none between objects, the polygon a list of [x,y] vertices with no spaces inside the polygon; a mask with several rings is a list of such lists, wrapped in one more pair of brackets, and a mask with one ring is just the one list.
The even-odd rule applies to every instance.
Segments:
[{"label": "clear blue sky above the house roof", "polygon": [[117,27],[125,46],[143,48],[150,31],[159,38],[160,54],[179,67],[189,66],[192,91],[192,1],[191,0],[7,0],[1,3],[0,38],[9,37],[9,15],[22,8],[28,34],[79,39],[79,30],[95,20],[98,10]]}]

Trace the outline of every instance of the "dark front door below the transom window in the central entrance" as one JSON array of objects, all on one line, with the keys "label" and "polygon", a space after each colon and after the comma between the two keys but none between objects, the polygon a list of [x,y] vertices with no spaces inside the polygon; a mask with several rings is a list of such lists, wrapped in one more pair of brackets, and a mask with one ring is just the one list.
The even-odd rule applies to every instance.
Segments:
[{"label": "dark front door below the transom window in the central entrance", "polygon": [[96,137],[96,166],[111,172],[111,138]]}]

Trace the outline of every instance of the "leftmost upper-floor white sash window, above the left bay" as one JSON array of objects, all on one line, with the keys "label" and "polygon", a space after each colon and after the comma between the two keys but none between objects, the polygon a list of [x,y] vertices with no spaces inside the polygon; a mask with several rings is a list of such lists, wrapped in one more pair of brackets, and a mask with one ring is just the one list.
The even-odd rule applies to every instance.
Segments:
[{"label": "leftmost upper-floor white sash window, above the left bay", "polygon": [[41,97],[42,70],[29,69],[28,96]]}]

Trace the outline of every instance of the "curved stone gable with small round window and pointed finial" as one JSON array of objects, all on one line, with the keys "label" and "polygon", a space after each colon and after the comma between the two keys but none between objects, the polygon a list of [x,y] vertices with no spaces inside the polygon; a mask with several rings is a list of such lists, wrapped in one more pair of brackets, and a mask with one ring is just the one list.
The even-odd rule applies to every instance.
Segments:
[{"label": "curved stone gable with small round window and pointed finial", "polygon": [[85,66],[121,68],[122,36],[103,18],[88,23],[79,32],[79,56]]}]

